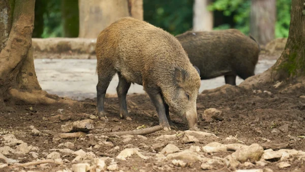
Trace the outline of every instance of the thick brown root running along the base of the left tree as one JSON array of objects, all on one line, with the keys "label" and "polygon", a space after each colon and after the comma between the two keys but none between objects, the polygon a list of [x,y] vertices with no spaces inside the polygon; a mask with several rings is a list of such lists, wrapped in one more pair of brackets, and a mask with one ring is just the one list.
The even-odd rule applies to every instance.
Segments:
[{"label": "thick brown root running along the base of the left tree", "polygon": [[29,91],[22,91],[17,89],[11,89],[9,91],[10,95],[17,99],[21,100],[28,104],[54,104],[54,103],[63,103],[72,105],[77,101],[71,99],[62,99],[56,95],[50,95],[45,91],[42,90],[29,90]]}]

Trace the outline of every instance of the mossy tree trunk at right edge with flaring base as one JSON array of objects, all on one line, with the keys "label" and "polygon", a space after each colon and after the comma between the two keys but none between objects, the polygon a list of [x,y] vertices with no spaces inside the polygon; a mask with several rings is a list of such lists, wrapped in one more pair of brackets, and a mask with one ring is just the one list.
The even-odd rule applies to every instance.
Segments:
[{"label": "mossy tree trunk at right edge with flaring base", "polygon": [[241,87],[251,88],[258,83],[303,78],[305,73],[305,5],[303,0],[291,2],[289,36],[285,50],[277,63],[262,74],[246,79]]}]

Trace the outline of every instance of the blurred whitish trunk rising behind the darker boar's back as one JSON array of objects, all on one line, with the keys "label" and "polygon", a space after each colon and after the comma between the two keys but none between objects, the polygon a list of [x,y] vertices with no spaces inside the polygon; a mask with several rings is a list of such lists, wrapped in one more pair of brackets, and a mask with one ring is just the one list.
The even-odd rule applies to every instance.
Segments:
[{"label": "blurred whitish trunk rising behind the darker boar's back", "polygon": [[213,12],[207,10],[211,0],[195,0],[193,7],[193,30],[211,31],[213,29]]}]

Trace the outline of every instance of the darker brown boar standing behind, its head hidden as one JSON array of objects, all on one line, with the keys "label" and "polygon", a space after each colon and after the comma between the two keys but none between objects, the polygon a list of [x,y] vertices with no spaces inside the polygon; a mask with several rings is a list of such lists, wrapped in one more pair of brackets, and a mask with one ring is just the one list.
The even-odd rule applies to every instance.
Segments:
[{"label": "darker brown boar standing behind, its head hidden", "polygon": [[236,85],[236,75],[242,79],[254,75],[260,47],[238,30],[188,31],[176,38],[199,68],[201,79],[224,75],[227,84]]}]

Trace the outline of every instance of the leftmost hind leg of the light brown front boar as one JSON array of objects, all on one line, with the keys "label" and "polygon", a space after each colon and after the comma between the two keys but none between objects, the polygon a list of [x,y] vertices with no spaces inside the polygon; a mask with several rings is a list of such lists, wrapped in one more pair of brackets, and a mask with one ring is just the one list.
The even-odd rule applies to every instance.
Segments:
[{"label": "leftmost hind leg of the light brown front boar", "polygon": [[97,84],[97,109],[98,109],[98,116],[101,118],[101,120],[104,120],[105,122],[108,121],[107,119],[107,112],[104,111],[104,99],[105,99],[105,94],[107,91],[107,88],[109,86],[109,83],[115,74],[115,71],[98,71],[99,74],[99,81]]}]

